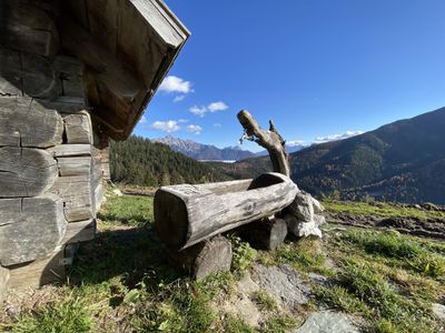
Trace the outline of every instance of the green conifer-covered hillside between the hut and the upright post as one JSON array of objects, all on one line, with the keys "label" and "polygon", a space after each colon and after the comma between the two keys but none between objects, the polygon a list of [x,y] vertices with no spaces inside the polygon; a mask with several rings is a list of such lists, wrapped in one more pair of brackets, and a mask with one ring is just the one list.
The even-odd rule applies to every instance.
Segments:
[{"label": "green conifer-covered hillside between the hut and the upright post", "polygon": [[169,147],[131,137],[110,144],[111,180],[118,183],[159,186],[228,180],[227,175]]}]

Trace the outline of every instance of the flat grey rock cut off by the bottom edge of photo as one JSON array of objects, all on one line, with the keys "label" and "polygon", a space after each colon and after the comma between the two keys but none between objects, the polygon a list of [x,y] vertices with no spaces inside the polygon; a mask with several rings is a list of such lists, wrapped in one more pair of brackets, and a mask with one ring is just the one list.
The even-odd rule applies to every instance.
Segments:
[{"label": "flat grey rock cut off by the bottom edge of photo", "polygon": [[349,316],[342,312],[319,311],[309,315],[295,333],[358,333]]}]

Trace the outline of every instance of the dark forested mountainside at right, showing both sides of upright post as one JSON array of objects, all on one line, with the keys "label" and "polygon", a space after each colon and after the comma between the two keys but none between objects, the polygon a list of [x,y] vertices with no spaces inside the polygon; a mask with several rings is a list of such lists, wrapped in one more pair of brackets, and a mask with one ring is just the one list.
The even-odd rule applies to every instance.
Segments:
[{"label": "dark forested mountainside at right, showing both sides of upright post", "polygon": [[[218,168],[251,178],[270,163],[263,157]],[[307,147],[290,154],[290,169],[293,180],[315,195],[445,203],[445,108]]]}]

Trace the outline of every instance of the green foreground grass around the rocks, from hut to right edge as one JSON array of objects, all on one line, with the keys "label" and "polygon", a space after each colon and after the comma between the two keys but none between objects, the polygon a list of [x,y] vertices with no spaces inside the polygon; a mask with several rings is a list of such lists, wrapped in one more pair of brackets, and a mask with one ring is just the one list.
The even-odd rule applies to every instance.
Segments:
[{"label": "green foreground grass around the rocks, from hut to right edge", "polygon": [[[81,246],[68,281],[0,320],[0,331],[288,332],[301,313],[325,305],[363,317],[369,332],[441,332],[431,303],[445,299],[444,243],[350,229],[265,252],[231,235],[231,271],[196,282],[167,264],[152,230],[151,198],[111,196],[100,219],[97,240]],[[326,268],[327,255],[336,268]],[[295,314],[266,292],[253,293],[264,317],[254,329],[219,305],[236,296],[237,282],[256,263],[289,264],[308,281],[315,272],[329,283],[314,286],[312,307]]]}]

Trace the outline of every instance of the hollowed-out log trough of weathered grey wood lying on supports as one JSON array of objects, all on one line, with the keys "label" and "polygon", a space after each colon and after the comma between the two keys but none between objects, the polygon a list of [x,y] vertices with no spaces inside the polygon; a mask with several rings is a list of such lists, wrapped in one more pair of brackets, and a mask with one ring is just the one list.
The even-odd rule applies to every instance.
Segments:
[{"label": "hollowed-out log trough of weathered grey wood lying on supports", "polygon": [[[231,185],[239,189],[236,182]],[[182,184],[162,186],[156,192],[155,224],[167,245],[186,249],[218,233],[270,216],[291,203],[298,189],[283,174],[265,173],[254,180],[247,191],[226,189],[227,193],[219,195],[212,191],[205,185]]]}]

